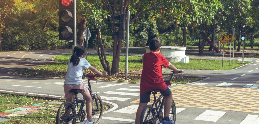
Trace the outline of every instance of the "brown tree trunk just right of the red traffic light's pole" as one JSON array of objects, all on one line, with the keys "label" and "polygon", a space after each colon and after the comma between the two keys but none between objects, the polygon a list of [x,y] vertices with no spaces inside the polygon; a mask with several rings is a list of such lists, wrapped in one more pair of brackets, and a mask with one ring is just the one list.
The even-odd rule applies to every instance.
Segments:
[{"label": "brown tree trunk just right of the red traffic light's pole", "polygon": [[79,24],[78,24],[78,32],[77,32],[77,39],[76,42],[78,45],[84,45],[84,36],[83,36],[83,32],[86,28],[86,21],[82,20]]}]

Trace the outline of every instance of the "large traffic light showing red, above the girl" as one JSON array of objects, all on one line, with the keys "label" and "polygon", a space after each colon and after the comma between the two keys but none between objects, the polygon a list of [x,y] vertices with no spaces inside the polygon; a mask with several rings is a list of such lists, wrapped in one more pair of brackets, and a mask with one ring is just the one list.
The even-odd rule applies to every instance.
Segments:
[{"label": "large traffic light showing red, above the girl", "polygon": [[74,40],[74,2],[59,0],[59,40]]}]

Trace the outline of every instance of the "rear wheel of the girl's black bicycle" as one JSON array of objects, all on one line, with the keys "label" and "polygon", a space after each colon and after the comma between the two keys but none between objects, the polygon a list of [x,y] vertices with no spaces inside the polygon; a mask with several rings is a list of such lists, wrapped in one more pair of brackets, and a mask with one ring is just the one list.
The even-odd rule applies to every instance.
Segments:
[{"label": "rear wheel of the girl's black bicycle", "polygon": [[76,113],[74,111],[75,109],[73,103],[69,101],[62,103],[59,107],[59,110],[57,111],[56,124],[76,123]]}]

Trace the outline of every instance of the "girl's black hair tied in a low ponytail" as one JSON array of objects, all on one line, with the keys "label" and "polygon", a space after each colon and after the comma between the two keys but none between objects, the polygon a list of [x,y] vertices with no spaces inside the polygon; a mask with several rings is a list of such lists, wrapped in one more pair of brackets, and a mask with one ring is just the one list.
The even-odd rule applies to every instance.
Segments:
[{"label": "girl's black hair tied in a low ponytail", "polygon": [[80,61],[80,56],[84,54],[84,47],[82,45],[77,45],[74,48],[74,53],[70,58],[70,63],[73,63],[73,65],[78,65]]}]

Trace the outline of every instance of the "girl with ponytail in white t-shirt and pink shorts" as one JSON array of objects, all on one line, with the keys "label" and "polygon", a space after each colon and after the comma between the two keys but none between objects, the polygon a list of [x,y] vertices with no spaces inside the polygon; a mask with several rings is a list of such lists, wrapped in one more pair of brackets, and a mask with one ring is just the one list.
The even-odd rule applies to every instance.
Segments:
[{"label": "girl with ponytail in white t-shirt and pink shorts", "polygon": [[[68,60],[67,74],[64,82],[64,92],[66,101],[72,101],[74,93],[69,92],[71,89],[82,90],[86,102],[87,121],[85,124],[93,124],[92,122],[92,97],[88,91],[87,86],[84,84],[82,76],[85,69],[90,69],[92,72],[100,75],[107,76],[107,72],[100,72],[96,68],[92,67],[84,56],[84,47],[78,45],[74,48],[74,54]],[[88,102],[90,101],[90,102]]]}]

